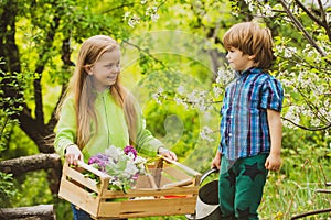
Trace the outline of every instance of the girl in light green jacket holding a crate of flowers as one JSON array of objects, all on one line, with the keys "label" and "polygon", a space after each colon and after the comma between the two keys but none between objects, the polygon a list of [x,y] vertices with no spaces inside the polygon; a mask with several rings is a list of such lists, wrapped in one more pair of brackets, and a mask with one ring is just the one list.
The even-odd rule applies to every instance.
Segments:
[{"label": "girl in light green jacket holding a crate of flowers", "polygon": [[[120,48],[115,40],[96,35],[86,40],[78,53],[75,73],[58,108],[55,150],[73,165],[87,162],[109,145],[135,145],[148,155],[177,161],[146,129],[132,95],[119,80]],[[73,207],[74,219],[84,219]],[[82,211],[81,211],[82,212]],[[85,212],[85,217],[89,219]]]}]

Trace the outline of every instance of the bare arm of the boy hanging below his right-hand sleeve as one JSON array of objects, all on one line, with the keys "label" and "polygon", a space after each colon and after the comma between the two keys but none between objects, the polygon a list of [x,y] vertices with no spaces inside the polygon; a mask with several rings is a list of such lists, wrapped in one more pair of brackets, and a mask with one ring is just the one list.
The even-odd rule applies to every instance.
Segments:
[{"label": "bare arm of the boy hanging below his right-hand sleeve", "polygon": [[269,124],[269,132],[270,132],[270,141],[271,141],[271,147],[270,147],[270,154],[266,161],[266,168],[270,170],[278,170],[281,165],[280,160],[280,148],[281,148],[281,119],[280,119],[280,112],[267,109],[267,116],[268,116],[268,124]]}]

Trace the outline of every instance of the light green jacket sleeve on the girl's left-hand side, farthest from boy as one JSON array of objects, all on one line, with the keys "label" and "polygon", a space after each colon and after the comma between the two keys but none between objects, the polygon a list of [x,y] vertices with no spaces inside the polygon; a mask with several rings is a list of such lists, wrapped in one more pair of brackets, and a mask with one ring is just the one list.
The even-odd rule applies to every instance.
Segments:
[{"label": "light green jacket sleeve on the girl's left-hand side, farthest from boy", "polygon": [[64,156],[64,150],[76,142],[77,125],[73,99],[64,101],[56,129],[54,147],[61,156]]}]

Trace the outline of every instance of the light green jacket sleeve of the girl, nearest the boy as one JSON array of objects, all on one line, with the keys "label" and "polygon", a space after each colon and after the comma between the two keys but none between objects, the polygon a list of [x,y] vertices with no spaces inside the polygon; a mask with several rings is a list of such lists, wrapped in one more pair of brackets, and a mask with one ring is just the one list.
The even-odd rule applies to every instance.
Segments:
[{"label": "light green jacket sleeve of the girl, nearest the boy", "polygon": [[137,151],[148,156],[156,156],[158,148],[163,146],[163,144],[146,129],[146,120],[142,117],[142,112],[138,114],[136,142]]}]

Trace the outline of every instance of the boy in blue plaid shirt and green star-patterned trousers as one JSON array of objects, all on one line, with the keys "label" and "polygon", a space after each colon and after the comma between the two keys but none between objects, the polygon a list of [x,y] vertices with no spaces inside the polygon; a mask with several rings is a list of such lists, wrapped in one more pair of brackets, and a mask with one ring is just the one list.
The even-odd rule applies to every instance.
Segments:
[{"label": "boy in blue plaid shirt and green star-patterned trousers", "polygon": [[268,170],[281,164],[284,91],[267,73],[274,57],[268,29],[238,23],[223,43],[236,78],[225,89],[221,143],[212,162],[220,169],[220,208],[222,219],[258,219]]}]

